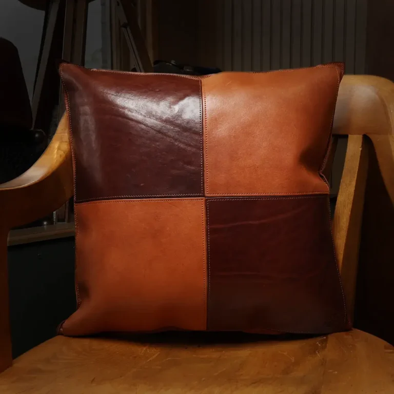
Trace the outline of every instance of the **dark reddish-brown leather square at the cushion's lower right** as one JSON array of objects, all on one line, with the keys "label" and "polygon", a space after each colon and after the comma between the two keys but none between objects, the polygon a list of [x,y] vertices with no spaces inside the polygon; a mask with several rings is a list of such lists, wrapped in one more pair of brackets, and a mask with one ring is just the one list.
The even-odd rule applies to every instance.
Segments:
[{"label": "dark reddish-brown leather square at the cushion's lower right", "polygon": [[348,328],[328,196],[206,203],[209,330]]}]

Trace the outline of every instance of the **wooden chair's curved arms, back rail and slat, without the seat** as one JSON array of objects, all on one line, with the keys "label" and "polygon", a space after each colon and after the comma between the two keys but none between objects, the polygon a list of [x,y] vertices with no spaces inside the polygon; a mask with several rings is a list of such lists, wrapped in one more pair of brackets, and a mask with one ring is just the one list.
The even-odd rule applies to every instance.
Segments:
[{"label": "wooden chair's curved arms, back rail and slat, without the seat", "polygon": [[[375,76],[346,75],[334,116],[334,135],[349,135],[345,166],[334,213],[333,236],[338,266],[351,312],[358,252],[367,149],[376,150],[380,170],[394,203],[394,84]],[[8,316],[7,234],[42,218],[73,194],[69,129],[66,116],[40,159],[18,178],[0,185],[0,371],[11,364]]]}]

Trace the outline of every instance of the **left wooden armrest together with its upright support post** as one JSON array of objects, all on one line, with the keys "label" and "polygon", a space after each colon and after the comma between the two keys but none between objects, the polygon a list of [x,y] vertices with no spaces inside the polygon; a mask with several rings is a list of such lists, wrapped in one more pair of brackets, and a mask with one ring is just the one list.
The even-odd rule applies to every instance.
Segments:
[{"label": "left wooden armrest together with its upright support post", "polygon": [[73,194],[69,129],[63,116],[44,154],[24,174],[0,185],[0,372],[12,363],[9,326],[7,235],[12,227],[53,212]]}]

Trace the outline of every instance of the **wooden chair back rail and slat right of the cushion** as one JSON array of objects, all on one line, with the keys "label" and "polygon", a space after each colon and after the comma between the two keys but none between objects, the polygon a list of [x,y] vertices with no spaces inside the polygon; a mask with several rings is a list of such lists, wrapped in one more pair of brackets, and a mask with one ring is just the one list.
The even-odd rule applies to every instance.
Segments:
[{"label": "wooden chair back rail and slat right of the cushion", "polygon": [[333,134],[348,135],[346,159],[333,221],[338,266],[350,313],[354,307],[367,149],[375,149],[394,204],[394,84],[369,75],[346,75],[340,86]]}]

